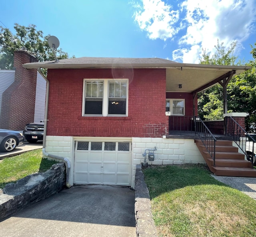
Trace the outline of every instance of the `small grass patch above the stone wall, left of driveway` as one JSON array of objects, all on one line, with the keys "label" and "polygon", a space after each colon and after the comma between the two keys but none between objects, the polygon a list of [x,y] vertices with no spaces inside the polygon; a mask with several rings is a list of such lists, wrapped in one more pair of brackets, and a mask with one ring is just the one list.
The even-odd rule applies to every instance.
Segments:
[{"label": "small grass patch above the stone wall, left of driveway", "polygon": [[5,158],[0,162],[0,188],[7,183],[16,183],[18,179],[32,173],[44,172],[55,163],[56,161],[42,158],[42,149]]}]

